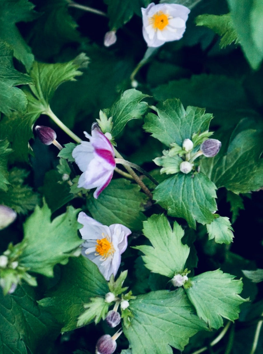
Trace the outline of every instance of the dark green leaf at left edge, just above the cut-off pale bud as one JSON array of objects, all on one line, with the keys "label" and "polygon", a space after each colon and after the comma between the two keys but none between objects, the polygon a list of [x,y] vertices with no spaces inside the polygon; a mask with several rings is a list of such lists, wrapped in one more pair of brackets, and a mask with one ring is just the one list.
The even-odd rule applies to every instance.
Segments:
[{"label": "dark green leaf at left edge, just above the cut-off pale bud", "polygon": [[14,167],[9,173],[8,190],[0,191],[0,204],[9,206],[19,214],[27,214],[39,204],[39,195],[29,185],[24,184],[29,172]]}]

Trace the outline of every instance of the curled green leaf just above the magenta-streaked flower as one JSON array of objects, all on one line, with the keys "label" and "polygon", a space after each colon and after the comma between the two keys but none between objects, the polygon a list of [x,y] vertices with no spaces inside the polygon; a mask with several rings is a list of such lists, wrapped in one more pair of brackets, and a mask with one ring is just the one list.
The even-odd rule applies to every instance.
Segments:
[{"label": "curled green leaf just above the magenta-streaked flower", "polygon": [[111,134],[113,138],[123,130],[129,120],[142,118],[147,111],[148,104],[140,101],[146,97],[150,96],[135,89],[126,90],[110,108],[103,110],[108,117],[112,117]]}]

